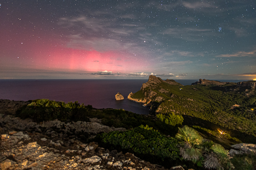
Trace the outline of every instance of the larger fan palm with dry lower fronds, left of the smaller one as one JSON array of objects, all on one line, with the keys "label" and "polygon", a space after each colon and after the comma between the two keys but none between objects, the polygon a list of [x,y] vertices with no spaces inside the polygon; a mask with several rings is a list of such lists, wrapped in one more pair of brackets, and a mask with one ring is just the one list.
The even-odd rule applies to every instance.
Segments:
[{"label": "larger fan palm with dry lower fronds, left of the smaller one", "polygon": [[202,144],[203,138],[195,129],[186,125],[183,128],[179,127],[176,138],[180,140],[180,154],[184,159],[199,159],[202,155],[200,145]]}]

